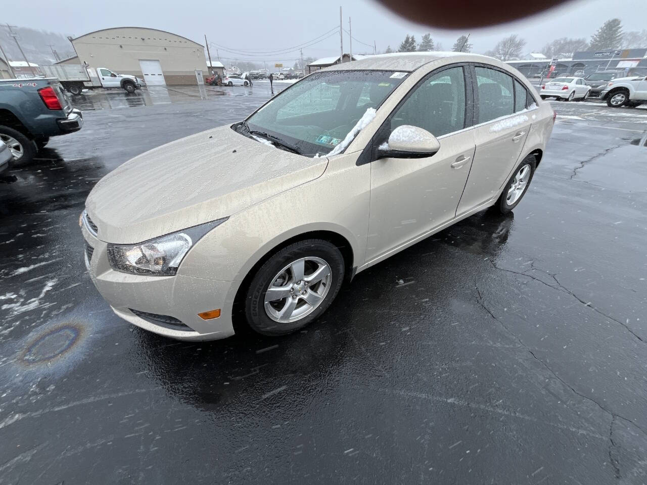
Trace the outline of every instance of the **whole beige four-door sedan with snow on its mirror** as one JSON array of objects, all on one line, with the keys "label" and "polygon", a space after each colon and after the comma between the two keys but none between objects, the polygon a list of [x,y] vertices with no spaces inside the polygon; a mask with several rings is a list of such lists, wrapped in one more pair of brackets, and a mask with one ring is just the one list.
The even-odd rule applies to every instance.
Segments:
[{"label": "whole beige four-door sedan with snow on its mirror", "polygon": [[554,113],[519,72],[456,52],[311,74],[245,121],[136,156],[81,217],[115,313],[157,334],[302,329],[342,282],[465,217],[512,210]]}]

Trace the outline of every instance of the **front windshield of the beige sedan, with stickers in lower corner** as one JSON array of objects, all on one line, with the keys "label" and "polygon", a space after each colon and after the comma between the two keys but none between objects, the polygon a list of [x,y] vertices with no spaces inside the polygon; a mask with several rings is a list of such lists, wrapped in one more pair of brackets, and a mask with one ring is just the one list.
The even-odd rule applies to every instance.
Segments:
[{"label": "front windshield of the beige sedan, with stickers in lower corner", "polygon": [[407,75],[387,70],[316,72],[250,116],[247,127],[302,155],[323,155],[344,140],[367,109],[380,107]]}]

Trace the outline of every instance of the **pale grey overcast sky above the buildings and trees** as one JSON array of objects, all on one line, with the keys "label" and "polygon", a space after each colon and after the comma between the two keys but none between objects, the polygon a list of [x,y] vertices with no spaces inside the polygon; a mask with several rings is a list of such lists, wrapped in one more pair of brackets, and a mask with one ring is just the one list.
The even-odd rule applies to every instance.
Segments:
[{"label": "pale grey overcast sky above the buildings and trees", "polygon": [[[521,0],[524,1],[524,0]],[[452,3],[452,2],[450,2]],[[218,44],[221,58],[237,58],[268,63],[284,61],[292,64],[299,52],[286,54],[259,54],[302,45],[325,32],[338,28],[339,5],[329,8],[320,0],[248,0],[195,1],[156,0],[73,4],[69,0],[30,0],[4,2],[3,21],[21,27],[52,30],[80,36],[109,27],[151,27],[168,30],[204,44],[204,34],[210,43]],[[454,5],[459,5],[454,2]],[[76,6],[73,6],[76,5]],[[344,28],[352,19],[353,37],[366,44],[377,44],[377,50],[388,45],[396,49],[406,34],[415,34],[419,40],[425,32],[450,50],[455,39],[470,33],[473,52],[485,52],[509,35],[519,34],[526,39],[525,52],[540,48],[558,37],[584,37],[591,34],[610,17],[619,17],[624,30],[642,30],[646,27],[646,0],[575,0],[543,14],[498,27],[460,32],[430,29],[404,21],[372,0],[353,0],[341,3]],[[493,3],[492,5],[495,5]],[[325,38],[325,36],[323,36]],[[348,51],[348,35],[344,33],[344,51]],[[647,46],[645,46],[647,47]],[[226,52],[226,48],[247,50],[248,55]],[[336,34],[310,47],[303,48],[304,57],[322,58],[339,54],[339,35]],[[253,51],[253,52],[252,52]],[[372,52],[372,48],[353,41],[353,52]],[[216,52],[212,48],[212,58]]]}]

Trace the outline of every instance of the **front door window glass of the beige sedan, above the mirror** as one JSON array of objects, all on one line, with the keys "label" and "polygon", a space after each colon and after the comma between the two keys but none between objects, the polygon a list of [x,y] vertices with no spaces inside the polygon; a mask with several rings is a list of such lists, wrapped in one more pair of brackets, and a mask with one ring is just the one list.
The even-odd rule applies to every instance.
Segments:
[{"label": "front door window glass of the beige sedan, above the mirror", "polygon": [[432,74],[415,88],[391,118],[391,131],[400,125],[426,129],[443,136],[465,127],[465,76],[463,67]]}]

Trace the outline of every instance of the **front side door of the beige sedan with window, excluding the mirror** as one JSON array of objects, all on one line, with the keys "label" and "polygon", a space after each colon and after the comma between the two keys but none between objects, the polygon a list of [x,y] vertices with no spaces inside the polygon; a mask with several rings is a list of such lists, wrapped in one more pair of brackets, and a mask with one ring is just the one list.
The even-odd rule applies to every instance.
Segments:
[{"label": "front side door of the beige sedan with window, excluding the mirror", "polygon": [[[474,156],[472,89],[465,65],[425,76],[373,136],[367,261],[385,257],[454,218]],[[378,146],[400,125],[435,135],[424,158],[380,158]]]}]

